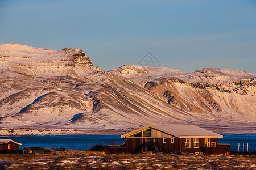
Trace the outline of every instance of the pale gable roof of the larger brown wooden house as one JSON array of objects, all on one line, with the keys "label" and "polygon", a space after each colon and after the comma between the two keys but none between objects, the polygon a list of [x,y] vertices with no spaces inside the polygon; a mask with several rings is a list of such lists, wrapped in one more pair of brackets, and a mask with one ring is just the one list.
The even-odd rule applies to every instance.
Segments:
[{"label": "pale gable roof of the larger brown wooden house", "polygon": [[152,124],[136,129],[129,133],[121,135],[121,138],[142,131],[144,129],[154,128],[177,138],[222,138],[223,136],[212,131],[200,128],[195,125],[183,124]]}]

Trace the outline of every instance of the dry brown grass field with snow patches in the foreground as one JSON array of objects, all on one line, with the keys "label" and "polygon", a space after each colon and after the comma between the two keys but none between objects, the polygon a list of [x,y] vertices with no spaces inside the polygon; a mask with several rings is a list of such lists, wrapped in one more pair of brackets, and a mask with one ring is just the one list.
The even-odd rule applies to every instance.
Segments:
[{"label": "dry brown grass field with snow patches in the foreground", "polygon": [[121,154],[59,151],[0,154],[0,169],[256,169],[255,155]]}]

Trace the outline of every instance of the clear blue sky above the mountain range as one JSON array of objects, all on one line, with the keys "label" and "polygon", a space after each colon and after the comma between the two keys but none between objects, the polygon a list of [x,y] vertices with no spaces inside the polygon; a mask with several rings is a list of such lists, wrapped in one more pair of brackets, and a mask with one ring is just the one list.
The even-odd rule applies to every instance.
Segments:
[{"label": "clear blue sky above the mountain range", "polygon": [[108,71],[139,65],[256,73],[256,1],[0,1],[0,43],[81,48]]}]

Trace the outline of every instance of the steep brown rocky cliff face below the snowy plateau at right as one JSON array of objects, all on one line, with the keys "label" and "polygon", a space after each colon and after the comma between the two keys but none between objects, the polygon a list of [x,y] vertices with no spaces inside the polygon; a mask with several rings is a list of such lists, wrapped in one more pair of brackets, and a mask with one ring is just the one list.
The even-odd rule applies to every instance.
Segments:
[{"label": "steep brown rocky cliff face below the snowy plateau at right", "polygon": [[[255,79],[229,83],[188,83],[177,78],[147,82],[145,88],[184,111],[224,114],[255,121]],[[245,102],[246,101],[246,102]]]}]

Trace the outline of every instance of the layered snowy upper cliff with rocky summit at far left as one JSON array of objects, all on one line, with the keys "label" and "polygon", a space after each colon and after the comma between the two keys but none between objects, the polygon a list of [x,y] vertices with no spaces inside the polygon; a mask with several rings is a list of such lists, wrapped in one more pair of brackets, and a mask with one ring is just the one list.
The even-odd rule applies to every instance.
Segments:
[{"label": "layered snowy upper cliff with rocky summit at far left", "polygon": [[27,45],[1,44],[0,67],[32,76],[82,76],[97,71],[81,49],[55,51]]}]

